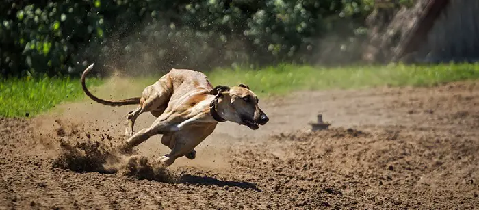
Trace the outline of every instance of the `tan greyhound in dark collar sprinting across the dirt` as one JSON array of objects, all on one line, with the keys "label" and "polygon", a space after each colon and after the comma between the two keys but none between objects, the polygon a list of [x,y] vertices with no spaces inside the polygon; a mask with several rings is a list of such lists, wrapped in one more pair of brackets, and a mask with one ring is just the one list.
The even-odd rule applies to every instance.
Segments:
[{"label": "tan greyhound in dark collar sprinting across the dirt", "polygon": [[[161,144],[171,151],[159,161],[166,167],[179,157],[194,159],[198,146],[213,133],[218,122],[235,122],[256,130],[269,118],[259,108],[259,99],[245,84],[239,86],[216,86],[213,88],[205,74],[188,69],[172,68],[158,81],[144,88],[137,98],[109,101],[94,96],[85,85],[86,75],[94,64],[88,66],[81,75],[83,92],[93,101],[109,106],[138,104],[127,116],[124,146],[133,148],[157,134]],[[136,118],[149,111],[157,119],[151,127],[133,135]]]}]

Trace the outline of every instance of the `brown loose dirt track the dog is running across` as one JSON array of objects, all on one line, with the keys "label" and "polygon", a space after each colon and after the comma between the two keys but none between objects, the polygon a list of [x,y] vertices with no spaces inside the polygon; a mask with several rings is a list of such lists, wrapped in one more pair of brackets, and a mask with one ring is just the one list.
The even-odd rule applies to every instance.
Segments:
[{"label": "brown loose dirt track the dog is running across", "polygon": [[[103,168],[109,157],[121,158],[107,147],[122,140],[132,107],[88,101],[62,106],[60,116],[0,119],[0,209],[479,207],[477,82],[263,101],[266,126],[220,124],[196,159],[179,159],[166,171],[127,157],[116,160],[115,170]],[[307,131],[317,113],[333,127]],[[151,122],[143,114],[136,131]],[[138,154],[151,161],[167,153],[159,138]],[[90,156],[75,153],[79,148]]]}]

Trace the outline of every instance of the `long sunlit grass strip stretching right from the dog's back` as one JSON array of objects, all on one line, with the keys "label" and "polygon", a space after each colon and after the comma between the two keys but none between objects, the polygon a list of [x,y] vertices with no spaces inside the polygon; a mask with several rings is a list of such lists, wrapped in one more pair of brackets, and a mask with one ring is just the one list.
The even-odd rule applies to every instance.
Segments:
[{"label": "long sunlit grass strip stretching right from the dog's back", "polygon": [[319,68],[280,65],[216,69],[206,73],[213,86],[246,83],[261,96],[287,94],[295,90],[370,88],[374,86],[434,86],[439,83],[479,78],[479,64],[437,64],[430,66],[352,66]]}]

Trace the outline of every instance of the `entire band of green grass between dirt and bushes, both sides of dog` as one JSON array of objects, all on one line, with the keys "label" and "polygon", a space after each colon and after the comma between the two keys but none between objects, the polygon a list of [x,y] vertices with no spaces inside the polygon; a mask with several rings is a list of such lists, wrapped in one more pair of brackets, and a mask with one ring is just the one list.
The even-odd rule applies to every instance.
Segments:
[{"label": "entire band of green grass between dirt and bushes, both sides of dog", "polygon": [[[352,66],[320,68],[285,64],[261,70],[250,68],[216,69],[206,73],[213,86],[246,83],[259,96],[278,96],[296,90],[368,88],[374,86],[434,86],[439,83],[479,78],[479,64],[433,66]],[[157,81],[155,77],[135,78],[131,92]],[[0,116],[40,114],[64,101],[83,99],[78,79],[9,79],[0,81]],[[99,86],[90,78],[88,86]],[[138,91],[136,91],[138,90]],[[96,94],[96,93],[95,93]]]}]

